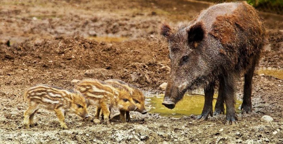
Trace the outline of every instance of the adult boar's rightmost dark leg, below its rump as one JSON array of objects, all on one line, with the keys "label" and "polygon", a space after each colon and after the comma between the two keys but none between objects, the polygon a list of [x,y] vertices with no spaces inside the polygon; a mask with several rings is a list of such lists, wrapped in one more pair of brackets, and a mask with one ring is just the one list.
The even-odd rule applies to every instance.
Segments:
[{"label": "adult boar's rightmost dark leg, below its rump", "polygon": [[249,113],[252,110],[252,77],[253,72],[255,69],[255,66],[257,64],[257,61],[259,59],[259,56],[256,56],[253,58],[252,66],[245,74],[245,84],[244,84],[244,96],[243,96],[243,103],[241,105],[241,110],[243,109],[242,113]]}]

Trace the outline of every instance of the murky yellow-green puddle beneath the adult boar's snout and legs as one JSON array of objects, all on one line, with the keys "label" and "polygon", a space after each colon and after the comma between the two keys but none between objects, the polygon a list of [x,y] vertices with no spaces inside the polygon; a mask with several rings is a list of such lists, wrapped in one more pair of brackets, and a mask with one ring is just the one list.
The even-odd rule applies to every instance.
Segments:
[{"label": "murky yellow-green puddle beneath the adult boar's snout and legs", "polygon": [[[214,94],[214,98],[217,98],[217,95]],[[150,103],[152,105],[152,109],[149,111],[150,113],[159,113],[161,116],[173,116],[173,117],[182,117],[182,116],[190,116],[190,115],[201,115],[203,111],[204,105],[204,96],[203,95],[185,95],[182,100],[180,100],[174,109],[168,109],[161,103],[164,99],[164,94],[156,95],[154,97],[148,97],[150,99]],[[216,99],[213,100],[213,110],[216,103]],[[238,109],[239,105],[241,105],[241,101],[236,100],[236,111],[240,111]],[[226,110],[226,107],[225,107]],[[226,113],[226,111],[225,111]]]}]

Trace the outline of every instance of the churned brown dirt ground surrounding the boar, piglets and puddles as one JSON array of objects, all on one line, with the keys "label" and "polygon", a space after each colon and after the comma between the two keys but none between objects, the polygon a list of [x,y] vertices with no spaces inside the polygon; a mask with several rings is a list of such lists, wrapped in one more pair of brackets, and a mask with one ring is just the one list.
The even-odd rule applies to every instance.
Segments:
[{"label": "churned brown dirt ground surrounding the boar, piglets and puddles", "polygon": [[[225,126],[225,115],[208,121],[132,112],[128,123],[82,123],[66,116],[61,130],[54,112],[39,111],[36,127],[25,129],[26,88],[44,83],[72,89],[72,80],[116,78],[138,85],[146,96],[161,94],[170,60],[161,23],[193,19],[209,3],[169,0],[0,1],[1,143],[283,143],[283,80],[253,78],[253,112]],[[263,13],[269,38],[259,68],[283,69],[283,17]],[[90,40],[89,37],[102,40]],[[103,37],[120,37],[113,41]],[[126,39],[120,41],[120,39]],[[237,80],[241,99],[243,78]],[[280,102],[281,101],[281,102]],[[276,103],[272,103],[276,102]],[[147,104],[150,107],[150,104]],[[94,107],[89,109],[94,114]],[[274,121],[261,122],[264,115]],[[220,129],[223,129],[221,131]],[[220,131],[219,131],[220,130]]]}]

